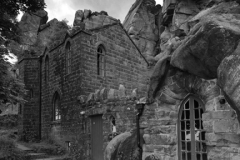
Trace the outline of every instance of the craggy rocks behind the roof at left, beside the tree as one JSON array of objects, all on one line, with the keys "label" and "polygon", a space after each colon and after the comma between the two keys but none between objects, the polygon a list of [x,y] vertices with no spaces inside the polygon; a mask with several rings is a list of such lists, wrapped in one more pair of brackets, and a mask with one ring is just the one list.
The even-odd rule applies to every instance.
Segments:
[{"label": "craggy rocks behind the roof at left, beside the tree", "polygon": [[30,52],[39,56],[45,47],[53,45],[52,43],[59,43],[60,37],[65,36],[68,30],[65,22],[53,19],[47,23],[47,20],[47,12],[44,10],[24,13],[19,22],[20,45],[24,53]]}]

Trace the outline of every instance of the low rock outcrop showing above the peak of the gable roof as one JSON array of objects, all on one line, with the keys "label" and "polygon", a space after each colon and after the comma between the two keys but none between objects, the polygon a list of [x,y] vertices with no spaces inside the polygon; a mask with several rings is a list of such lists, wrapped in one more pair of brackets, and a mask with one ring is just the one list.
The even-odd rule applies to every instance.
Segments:
[{"label": "low rock outcrop showing above the peak of the gable roof", "polygon": [[117,19],[108,16],[107,12],[93,12],[91,10],[78,10],[75,14],[73,26],[84,26],[85,29],[98,28],[118,22]]}]

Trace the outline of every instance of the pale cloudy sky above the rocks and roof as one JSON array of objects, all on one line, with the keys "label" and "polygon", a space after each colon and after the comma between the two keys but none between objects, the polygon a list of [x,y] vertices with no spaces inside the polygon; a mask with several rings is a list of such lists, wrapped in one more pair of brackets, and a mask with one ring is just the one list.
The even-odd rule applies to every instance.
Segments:
[{"label": "pale cloudy sky above the rocks and roof", "polygon": [[[124,21],[132,4],[136,0],[45,0],[48,12],[48,20],[57,18],[58,20],[67,19],[68,24],[72,25],[75,12],[77,10],[90,9],[92,12],[106,11],[108,15]],[[163,0],[155,0],[162,5]]]}]

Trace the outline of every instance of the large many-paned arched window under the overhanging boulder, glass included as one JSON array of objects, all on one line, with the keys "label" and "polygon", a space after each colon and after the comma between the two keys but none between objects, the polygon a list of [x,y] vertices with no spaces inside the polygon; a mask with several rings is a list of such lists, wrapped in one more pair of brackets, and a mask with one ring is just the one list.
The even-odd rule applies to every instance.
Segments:
[{"label": "large many-paned arched window under the overhanging boulder, glass included", "polygon": [[202,101],[193,95],[181,104],[178,115],[179,160],[207,160],[203,111]]}]

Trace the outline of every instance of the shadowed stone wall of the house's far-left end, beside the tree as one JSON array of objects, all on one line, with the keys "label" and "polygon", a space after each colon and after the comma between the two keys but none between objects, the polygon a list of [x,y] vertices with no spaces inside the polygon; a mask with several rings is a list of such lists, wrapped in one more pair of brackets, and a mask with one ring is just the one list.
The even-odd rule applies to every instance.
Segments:
[{"label": "shadowed stone wall of the house's far-left end, beside the tree", "polygon": [[20,79],[25,83],[26,102],[22,105],[19,125],[22,139],[31,141],[39,138],[39,59],[23,59],[18,63]]}]

